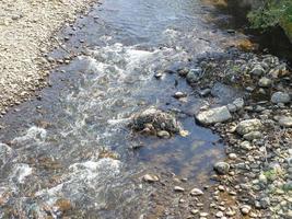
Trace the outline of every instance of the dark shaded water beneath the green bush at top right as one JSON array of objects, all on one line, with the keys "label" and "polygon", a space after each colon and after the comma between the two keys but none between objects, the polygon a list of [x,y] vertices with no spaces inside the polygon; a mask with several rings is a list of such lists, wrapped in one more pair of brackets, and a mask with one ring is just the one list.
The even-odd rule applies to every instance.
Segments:
[{"label": "dark shaded water beneath the green bush at top right", "polygon": [[[206,3],[206,1],[203,2]],[[267,31],[252,28],[247,19],[250,5],[240,5],[237,1],[232,0],[227,2],[226,4],[217,4],[217,12],[212,13],[214,18],[212,21],[215,21],[220,28],[244,33],[256,45],[256,51],[269,53],[289,61],[290,65],[292,64],[292,44],[280,26]],[[210,4],[210,2],[208,3]]]}]

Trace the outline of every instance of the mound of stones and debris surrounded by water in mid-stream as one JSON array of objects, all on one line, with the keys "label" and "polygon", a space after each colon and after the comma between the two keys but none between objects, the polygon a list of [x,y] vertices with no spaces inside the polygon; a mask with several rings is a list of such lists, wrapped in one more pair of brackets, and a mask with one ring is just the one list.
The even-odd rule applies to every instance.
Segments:
[{"label": "mound of stones and debris surrounded by water in mid-stream", "polygon": [[154,107],[147,108],[132,116],[130,127],[138,131],[151,130],[153,134],[177,134],[182,130],[180,124],[171,113],[156,110]]}]

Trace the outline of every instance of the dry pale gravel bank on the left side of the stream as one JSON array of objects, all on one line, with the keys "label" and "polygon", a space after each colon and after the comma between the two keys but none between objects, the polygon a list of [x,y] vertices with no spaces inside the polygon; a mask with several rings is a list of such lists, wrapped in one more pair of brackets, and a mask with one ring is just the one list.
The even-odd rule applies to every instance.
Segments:
[{"label": "dry pale gravel bank on the left side of the stream", "polygon": [[0,113],[45,85],[42,53],[56,44],[50,37],[93,0],[0,0]]}]

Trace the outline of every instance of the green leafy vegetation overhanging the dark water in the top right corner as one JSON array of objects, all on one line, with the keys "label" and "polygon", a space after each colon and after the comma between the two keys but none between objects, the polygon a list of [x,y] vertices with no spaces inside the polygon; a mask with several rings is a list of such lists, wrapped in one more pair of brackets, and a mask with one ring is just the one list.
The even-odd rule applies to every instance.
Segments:
[{"label": "green leafy vegetation overhanging the dark water in the top right corner", "polygon": [[268,30],[281,26],[292,42],[292,1],[264,0],[260,8],[248,13],[248,20],[254,28]]}]

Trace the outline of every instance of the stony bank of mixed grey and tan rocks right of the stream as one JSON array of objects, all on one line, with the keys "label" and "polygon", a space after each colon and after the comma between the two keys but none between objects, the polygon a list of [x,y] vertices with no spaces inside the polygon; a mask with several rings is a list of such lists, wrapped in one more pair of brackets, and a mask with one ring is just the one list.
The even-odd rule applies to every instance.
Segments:
[{"label": "stony bank of mixed grey and tan rocks right of the stream", "polygon": [[[226,142],[227,155],[213,164],[215,174],[211,178],[218,182],[213,186],[178,186],[183,178],[178,180],[179,184],[172,183],[172,192],[179,194],[175,196],[179,198],[177,206],[184,205],[187,211],[184,217],[292,218],[292,72],[289,66],[275,56],[255,54],[217,55],[217,58],[201,59],[198,66],[179,69],[177,73],[199,95],[212,99],[212,85],[223,82],[241,89],[243,96],[225,105],[202,106],[195,113],[199,124],[220,134]],[[161,181],[153,174],[142,178],[154,184]],[[208,206],[201,199],[209,199]]]}]

